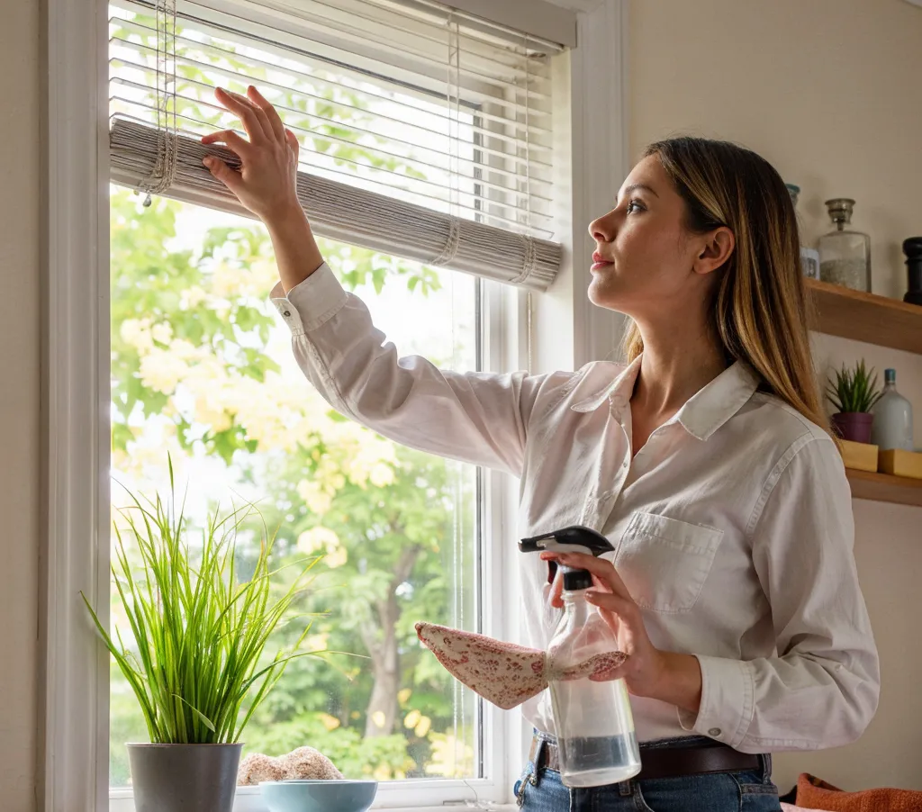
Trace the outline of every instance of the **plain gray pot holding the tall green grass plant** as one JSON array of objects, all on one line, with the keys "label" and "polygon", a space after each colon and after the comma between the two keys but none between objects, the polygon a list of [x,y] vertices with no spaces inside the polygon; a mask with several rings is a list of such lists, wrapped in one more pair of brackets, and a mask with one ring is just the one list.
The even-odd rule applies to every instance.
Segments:
[{"label": "plain gray pot holding the tall green grass plant", "polygon": [[242,744],[127,747],[136,812],[231,812]]}]

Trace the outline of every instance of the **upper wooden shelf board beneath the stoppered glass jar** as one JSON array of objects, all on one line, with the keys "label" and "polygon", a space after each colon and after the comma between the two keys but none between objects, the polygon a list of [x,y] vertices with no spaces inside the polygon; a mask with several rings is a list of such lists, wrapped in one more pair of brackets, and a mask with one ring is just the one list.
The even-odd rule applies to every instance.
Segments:
[{"label": "upper wooden shelf board beneath the stoppered glass jar", "polygon": [[874,293],[807,280],[820,333],[922,354],[922,307]]}]

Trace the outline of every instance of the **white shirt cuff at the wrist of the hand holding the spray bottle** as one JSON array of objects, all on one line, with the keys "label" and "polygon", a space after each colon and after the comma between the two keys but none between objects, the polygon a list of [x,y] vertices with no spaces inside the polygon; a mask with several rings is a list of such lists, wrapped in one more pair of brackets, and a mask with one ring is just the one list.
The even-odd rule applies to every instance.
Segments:
[{"label": "white shirt cuff at the wrist of the hand holding the spray bottle", "polygon": [[683,730],[739,747],[752,721],[755,680],[748,663],[695,654],[701,665],[701,707],[697,716],[679,709]]}]

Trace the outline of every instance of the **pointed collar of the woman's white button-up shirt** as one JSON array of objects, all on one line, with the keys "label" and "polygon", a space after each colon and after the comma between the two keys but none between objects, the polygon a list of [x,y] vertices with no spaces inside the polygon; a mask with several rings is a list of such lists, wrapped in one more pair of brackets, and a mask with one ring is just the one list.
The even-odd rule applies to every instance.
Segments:
[{"label": "pointed collar of the woman's white button-up shirt", "polygon": [[[610,400],[616,406],[631,400],[634,382],[640,371],[638,356],[604,389],[573,404],[574,412],[592,412]],[[698,440],[707,440],[749,401],[759,388],[759,378],[744,361],[736,361],[693,394],[669,422],[679,422]]]}]

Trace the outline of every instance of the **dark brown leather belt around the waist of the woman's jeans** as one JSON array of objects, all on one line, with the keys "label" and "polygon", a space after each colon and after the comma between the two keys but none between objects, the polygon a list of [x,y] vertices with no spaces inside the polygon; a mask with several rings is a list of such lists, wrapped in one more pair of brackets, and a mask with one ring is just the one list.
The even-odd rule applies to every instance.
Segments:
[{"label": "dark brown leather belt around the waist of the woman's jeans", "polygon": [[[560,771],[557,745],[541,736],[531,743],[528,760],[536,769]],[[704,772],[758,771],[762,763],[758,756],[740,753],[732,747],[714,742],[695,747],[646,747],[641,752],[641,771],[632,781],[653,781],[660,778],[680,778]]]}]

